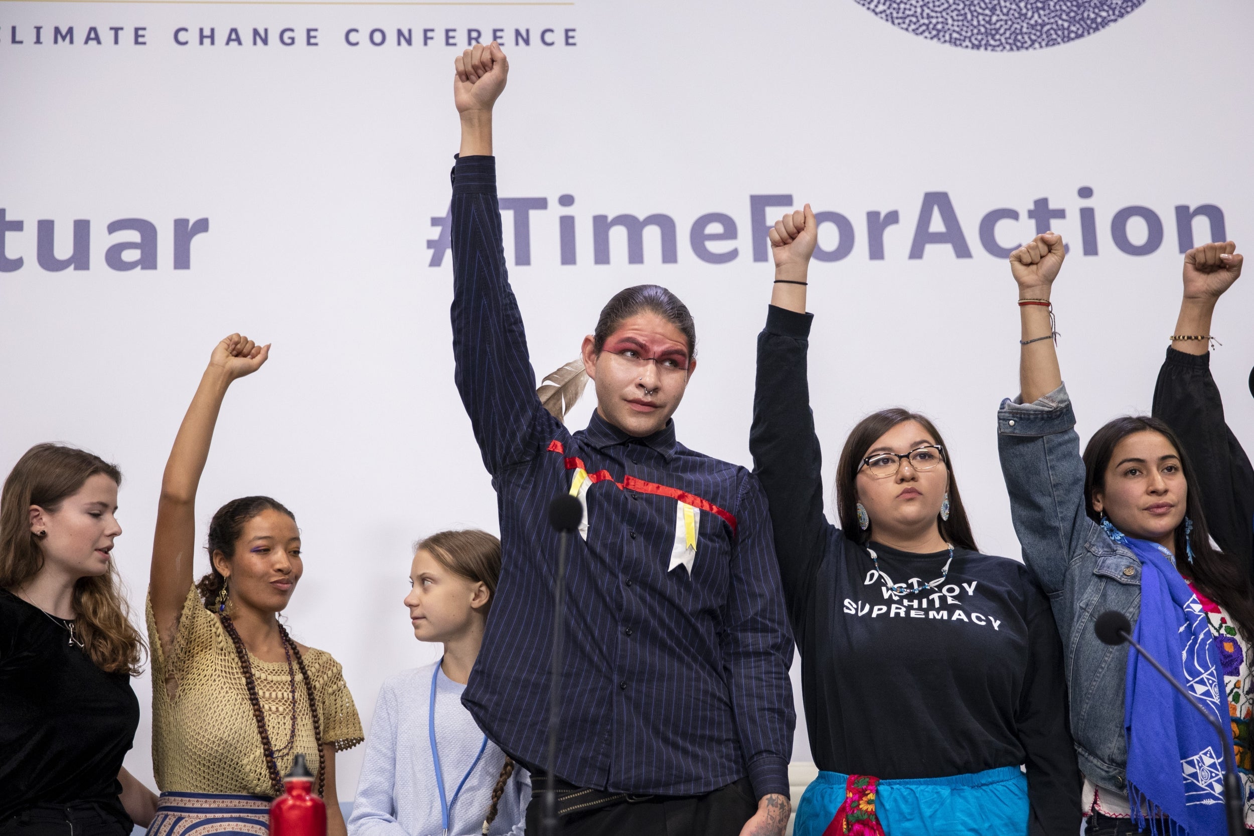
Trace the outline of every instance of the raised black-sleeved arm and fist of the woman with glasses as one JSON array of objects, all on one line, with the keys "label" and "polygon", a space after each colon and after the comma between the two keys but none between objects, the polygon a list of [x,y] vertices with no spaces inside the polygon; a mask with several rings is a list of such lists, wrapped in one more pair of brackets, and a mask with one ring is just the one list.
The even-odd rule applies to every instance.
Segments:
[{"label": "raised black-sleeved arm and fist of the woman with glasses", "polygon": [[804,613],[833,528],[823,515],[823,454],[810,411],[806,370],[811,316],[805,312],[816,236],[806,206],[770,232],[775,283],[766,328],[757,337],[757,381],[749,449],[770,504],[784,595],[796,640],[808,640]]}]

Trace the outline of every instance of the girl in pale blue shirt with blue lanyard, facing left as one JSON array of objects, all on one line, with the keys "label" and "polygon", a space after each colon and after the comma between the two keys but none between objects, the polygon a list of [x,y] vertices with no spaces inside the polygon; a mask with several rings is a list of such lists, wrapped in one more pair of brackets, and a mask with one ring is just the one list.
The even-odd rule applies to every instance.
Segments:
[{"label": "girl in pale blue shirt with blue lanyard, facing left", "polygon": [[461,704],[499,577],[500,540],[487,531],[440,531],[414,548],[405,607],[414,638],[444,656],[379,691],[351,836],[522,836],[527,770]]}]

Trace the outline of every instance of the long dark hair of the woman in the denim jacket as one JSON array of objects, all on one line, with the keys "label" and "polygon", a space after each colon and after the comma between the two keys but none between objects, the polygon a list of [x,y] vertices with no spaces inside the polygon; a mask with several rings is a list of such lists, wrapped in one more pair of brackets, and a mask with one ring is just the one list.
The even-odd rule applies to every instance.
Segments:
[{"label": "long dark hair of the woman in the denim jacket", "polygon": [[1210,545],[1210,528],[1201,510],[1201,486],[1194,480],[1193,465],[1180,446],[1180,439],[1165,421],[1149,415],[1125,415],[1107,421],[1104,427],[1093,432],[1085,446],[1085,511],[1095,523],[1101,521],[1101,514],[1093,510],[1093,490],[1105,490],[1106,468],[1119,442],[1134,432],[1144,431],[1160,434],[1180,456],[1180,469],[1184,471],[1188,486],[1185,518],[1193,521],[1193,534],[1185,538],[1185,523],[1181,520],[1175,530],[1172,551],[1176,555],[1185,555],[1191,545],[1193,563],[1178,562],[1179,565],[1186,568],[1193,575],[1193,582],[1208,598],[1224,607],[1236,619],[1236,627],[1245,640],[1254,640],[1254,589],[1250,587],[1249,575],[1239,560]]}]

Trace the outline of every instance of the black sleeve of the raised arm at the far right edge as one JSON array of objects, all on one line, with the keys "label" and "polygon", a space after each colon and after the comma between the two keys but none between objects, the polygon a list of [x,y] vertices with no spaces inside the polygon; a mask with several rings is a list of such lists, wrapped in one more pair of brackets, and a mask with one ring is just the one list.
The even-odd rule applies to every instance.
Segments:
[{"label": "black sleeve of the raised arm at the far right edge", "polygon": [[1180,437],[1210,535],[1254,573],[1254,468],[1224,420],[1209,353],[1167,348],[1154,387],[1154,416]]}]

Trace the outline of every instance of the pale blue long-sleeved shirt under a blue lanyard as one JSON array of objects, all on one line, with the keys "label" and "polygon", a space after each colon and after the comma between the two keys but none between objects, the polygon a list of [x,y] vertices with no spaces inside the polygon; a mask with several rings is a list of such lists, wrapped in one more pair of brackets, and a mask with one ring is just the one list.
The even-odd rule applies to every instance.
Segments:
[{"label": "pale blue long-sleeved shirt under a blue lanyard", "polygon": [[[428,732],[431,673],[438,664],[399,673],[379,691],[357,797],[349,817],[349,836],[440,836],[440,793]],[[453,800],[483,743],[483,731],[461,706],[464,689],[444,671],[436,674],[435,741],[450,802],[449,833],[479,836],[505,755],[489,742],[461,793]],[[523,816],[530,797],[530,776],[515,765],[489,833],[523,836]]]}]

